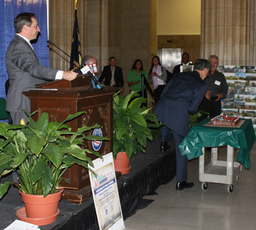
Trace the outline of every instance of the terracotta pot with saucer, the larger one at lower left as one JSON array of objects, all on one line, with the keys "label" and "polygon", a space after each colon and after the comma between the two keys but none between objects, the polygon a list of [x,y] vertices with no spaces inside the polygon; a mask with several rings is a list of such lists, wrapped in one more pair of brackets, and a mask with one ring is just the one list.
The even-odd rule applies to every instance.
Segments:
[{"label": "terracotta pot with saucer, the larger one at lower left", "polygon": [[[56,214],[59,212],[58,210],[59,201],[61,199],[61,193],[63,192],[63,190],[64,189],[59,189],[57,193],[49,194],[47,195],[47,197],[44,197],[43,195],[25,194],[19,191],[19,193],[22,195],[22,201],[24,202],[24,205],[25,205],[25,210],[26,210],[25,219],[27,220],[39,219],[40,223],[42,223],[43,218],[46,218],[49,221],[49,217],[51,217],[50,223],[55,222],[57,217]],[[24,219],[25,214],[23,212],[20,212],[20,211],[19,213],[16,212],[16,216],[18,216],[17,214],[19,214],[20,216],[18,217],[19,218],[22,217]],[[55,218],[53,218],[53,216],[55,216]],[[23,221],[26,221],[26,220],[23,220]],[[29,222],[29,221],[26,221],[26,222]],[[44,224],[37,224],[37,225],[44,225]]]}]

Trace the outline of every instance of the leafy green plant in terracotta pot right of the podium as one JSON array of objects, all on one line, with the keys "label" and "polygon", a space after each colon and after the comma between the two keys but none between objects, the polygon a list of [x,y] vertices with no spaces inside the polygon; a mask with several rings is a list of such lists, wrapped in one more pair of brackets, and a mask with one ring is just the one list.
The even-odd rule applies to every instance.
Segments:
[{"label": "leafy green plant in terracotta pot right of the podium", "polygon": [[[147,139],[152,140],[161,126],[155,114],[142,107],[147,99],[138,96],[137,92],[127,96],[120,96],[119,92],[113,95],[113,156],[115,170],[122,174],[129,172],[131,156],[139,151],[145,152]],[[117,166],[118,155],[128,161],[124,169]]]}]

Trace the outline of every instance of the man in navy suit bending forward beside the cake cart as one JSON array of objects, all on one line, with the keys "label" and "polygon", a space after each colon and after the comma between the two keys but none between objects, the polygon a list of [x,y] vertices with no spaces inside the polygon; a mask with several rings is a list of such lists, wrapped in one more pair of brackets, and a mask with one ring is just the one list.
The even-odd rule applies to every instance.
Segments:
[{"label": "man in navy suit bending forward beside the cake cart", "polygon": [[[188,158],[181,155],[179,144],[189,132],[189,113],[195,113],[207,91],[204,79],[210,70],[210,62],[198,59],[194,71],[176,74],[166,85],[155,114],[160,122],[166,123],[161,128],[161,141],[167,142],[174,137],[176,151],[176,190],[192,188],[193,182],[186,182],[188,177]],[[161,144],[162,144],[161,143]]]}]

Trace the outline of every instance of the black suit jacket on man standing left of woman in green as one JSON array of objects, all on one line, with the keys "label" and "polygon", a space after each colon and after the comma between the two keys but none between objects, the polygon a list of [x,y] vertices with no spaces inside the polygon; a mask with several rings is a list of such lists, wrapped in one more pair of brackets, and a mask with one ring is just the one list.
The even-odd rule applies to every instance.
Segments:
[{"label": "black suit jacket on man standing left of woman in green", "polygon": [[[111,82],[111,77],[112,77],[112,73],[111,73],[111,66],[104,66],[104,69],[101,73],[101,76],[99,78],[99,81],[102,82],[103,79],[105,78],[105,86],[110,86],[110,82]],[[115,73],[114,73],[114,79],[115,79],[115,87],[119,87],[122,88],[123,87],[123,72],[122,72],[122,68],[115,66]]]}]

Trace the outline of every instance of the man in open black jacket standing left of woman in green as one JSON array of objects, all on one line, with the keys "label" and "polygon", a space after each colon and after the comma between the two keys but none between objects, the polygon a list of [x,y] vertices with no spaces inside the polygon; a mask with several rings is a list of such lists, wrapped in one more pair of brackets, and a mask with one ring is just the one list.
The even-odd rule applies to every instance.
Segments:
[{"label": "man in open black jacket standing left of woman in green", "polygon": [[[123,87],[123,72],[122,68],[115,65],[115,57],[109,58],[110,65],[104,66],[99,81],[102,82],[105,79],[105,86],[114,86],[118,88]],[[121,93],[123,89],[121,90]]]}]

